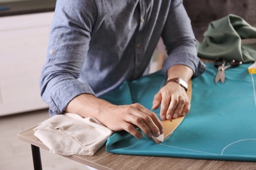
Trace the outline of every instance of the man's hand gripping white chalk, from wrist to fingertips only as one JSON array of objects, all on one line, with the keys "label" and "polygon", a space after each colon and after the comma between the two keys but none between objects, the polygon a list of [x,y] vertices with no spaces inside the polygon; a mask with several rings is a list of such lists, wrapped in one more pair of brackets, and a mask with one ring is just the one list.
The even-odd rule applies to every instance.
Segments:
[{"label": "man's hand gripping white chalk, from wrist to fingertips only", "polygon": [[114,131],[125,130],[131,135],[141,139],[142,134],[136,127],[139,127],[148,137],[159,137],[163,133],[163,126],[156,114],[142,105],[112,105],[100,116],[102,122]]}]

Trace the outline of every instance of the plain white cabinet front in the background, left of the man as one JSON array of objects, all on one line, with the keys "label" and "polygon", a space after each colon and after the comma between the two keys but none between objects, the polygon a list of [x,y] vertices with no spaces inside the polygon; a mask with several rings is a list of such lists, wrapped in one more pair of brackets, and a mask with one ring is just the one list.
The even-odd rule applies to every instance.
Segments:
[{"label": "plain white cabinet front in the background, left of the man", "polygon": [[45,109],[39,76],[53,12],[0,17],[0,116]]}]

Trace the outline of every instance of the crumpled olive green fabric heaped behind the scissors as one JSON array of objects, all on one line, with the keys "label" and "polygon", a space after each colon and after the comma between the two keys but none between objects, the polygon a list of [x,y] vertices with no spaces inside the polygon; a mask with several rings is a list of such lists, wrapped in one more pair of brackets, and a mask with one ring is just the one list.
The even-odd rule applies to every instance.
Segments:
[{"label": "crumpled olive green fabric heaped behind the scissors", "polygon": [[211,22],[203,35],[203,42],[198,42],[200,58],[236,59],[244,63],[256,60],[256,42],[242,43],[245,39],[256,39],[256,27],[240,16],[229,14]]}]

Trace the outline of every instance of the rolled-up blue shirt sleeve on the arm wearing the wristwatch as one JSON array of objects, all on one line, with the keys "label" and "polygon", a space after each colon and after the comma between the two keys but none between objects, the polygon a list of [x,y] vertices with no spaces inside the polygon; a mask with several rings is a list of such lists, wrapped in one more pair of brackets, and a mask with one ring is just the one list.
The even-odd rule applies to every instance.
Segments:
[{"label": "rolled-up blue shirt sleeve on the arm wearing the wristwatch", "polygon": [[198,58],[198,46],[190,19],[181,0],[172,1],[171,9],[161,35],[167,49],[167,58],[163,63],[163,74],[177,64],[186,65],[193,70],[193,76],[205,71],[205,65]]}]

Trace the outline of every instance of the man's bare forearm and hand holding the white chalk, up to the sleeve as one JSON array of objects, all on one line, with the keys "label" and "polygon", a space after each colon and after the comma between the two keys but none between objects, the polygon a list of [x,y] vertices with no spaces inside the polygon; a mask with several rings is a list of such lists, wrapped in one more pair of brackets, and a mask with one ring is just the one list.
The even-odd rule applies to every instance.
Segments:
[{"label": "man's bare forearm and hand holding the white chalk, up to the sleeve", "polygon": [[66,112],[94,117],[113,131],[125,130],[139,139],[142,134],[136,127],[147,137],[158,137],[163,133],[163,125],[158,116],[138,103],[117,106],[93,95],[81,94],[70,101]]}]

